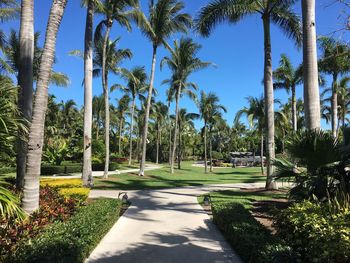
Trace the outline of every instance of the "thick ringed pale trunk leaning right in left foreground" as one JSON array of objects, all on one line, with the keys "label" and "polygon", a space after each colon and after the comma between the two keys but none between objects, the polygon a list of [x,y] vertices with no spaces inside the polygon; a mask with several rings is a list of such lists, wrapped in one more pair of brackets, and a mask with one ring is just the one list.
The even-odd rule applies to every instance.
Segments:
[{"label": "thick ringed pale trunk leaning right in left foreground", "polygon": [[48,101],[48,86],[55,59],[55,46],[59,26],[67,0],[52,2],[46,29],[45,44],[40,60],[39,79],[36,85],[33,120],[29,131],[27,171],[24,178],[22,206],[27,213],[39,208],[39,177],[44,142],[45,115]]}]

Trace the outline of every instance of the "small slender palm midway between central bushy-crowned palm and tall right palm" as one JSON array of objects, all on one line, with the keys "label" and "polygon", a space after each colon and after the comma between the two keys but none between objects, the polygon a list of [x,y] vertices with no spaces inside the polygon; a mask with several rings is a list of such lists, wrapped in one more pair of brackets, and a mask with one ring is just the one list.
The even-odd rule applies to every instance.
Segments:
[{"label": "small slender palm midway between central bushy-crowned palm and tall right palm", "polygon": [[201,91],[201,97],[198,102],[198,109],[200,113],[200,118],[204,121],[203,126],[203,137],[204,137],[204,170],[205,173],[208,172],[208,159],[207,159],[207,132],[208,126],[214,121],[214,116],[217,116],[219,112],[226,111],[225,107],[219,104],[219,97],[213,93],[209,92],[206,94]]}]

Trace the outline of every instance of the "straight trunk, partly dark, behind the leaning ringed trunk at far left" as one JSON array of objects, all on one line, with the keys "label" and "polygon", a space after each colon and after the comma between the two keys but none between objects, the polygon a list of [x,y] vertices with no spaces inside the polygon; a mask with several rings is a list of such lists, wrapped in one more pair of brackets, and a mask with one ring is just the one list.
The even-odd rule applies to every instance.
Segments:
[{"label": "straight trunk, partly dark, behind the leaning ringed trunk at far left", "polygon": [[[18,85],[19,110],[22,116],[30,123],[33,109],[33,57],[34,57],[34,1],[22,0],[21,25],[19,31],[19,69]],[[26,172],[28,144],[19,134],[17,141],[17,176],[16,187],[22,189]],[[27,137],[27,134],[26,134]]]}]

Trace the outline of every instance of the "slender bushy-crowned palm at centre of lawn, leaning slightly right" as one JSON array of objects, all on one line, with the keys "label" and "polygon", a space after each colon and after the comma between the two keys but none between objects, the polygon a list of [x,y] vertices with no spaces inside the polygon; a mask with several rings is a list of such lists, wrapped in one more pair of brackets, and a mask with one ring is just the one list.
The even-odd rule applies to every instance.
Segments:
[{"label": "slender bushy-crowned palm at centre of lawn, leaning slightly right", "polygon": [[201,46],[194,43],[190,38],[181,38],[180,41],[174,41],[174,49],[171,52],[171,57],[165,57],[161,61],[161,68],[164,63],[168,65],[172,72],[171,79],[163,81],[163,83],[169,83],[170,88],[173,91],[175,97],[175,132],[172,140],[173,149],[171,155],[170,173],[174,173],[174,159],[177,145],[178,131],[178,116],[179,116],[179,103],[180,98],[186,94],[191,99],[196,98],[197,85],[192,82],[188,82],[190,75],[200,69],[203,69],[210,65],[208,62],[201,61],[198,57],[198,51]]}]

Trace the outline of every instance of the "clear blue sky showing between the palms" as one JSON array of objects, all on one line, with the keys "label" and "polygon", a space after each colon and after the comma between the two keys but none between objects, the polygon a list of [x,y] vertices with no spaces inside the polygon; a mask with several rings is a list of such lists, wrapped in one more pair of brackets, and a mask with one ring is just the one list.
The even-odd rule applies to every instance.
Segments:
[{"label": "clear blue sky showing between the palms", "polygon": [[[148,0],[140,0],[143,10],[146,10]],[[52,1],[35,1],[35,31],[41,32],[41,45]],[[185,0],[186,11],[195,16],[198,10],[209,0]],[[317,2],[317,33],[318,35],[328,35],[341,27],[342,20],[339,18],[341,7],[331,5],[333,0],[318,0]],[[295,11],[300,14],[300,2],[295,6]],[[50,87],[50,93],[54,94],[58,100],[74,99],[79,106],[83,104],[83,62],[76,57],[68,56],[68,52],[75,49],[83,50],[85,9],[81,8],[79,0],[70,0],[66,8],[63,22],[59,31],[57,41],[58,63],[55,65],[56,71],[61,71],[69,75],[71,85],[68,88]],[[95,17],[95,24],[101,17]],[[5,23],[2,25],[5,31],[10,28],[18,29],[18,21]],[[291,57],[293,63],[301,62],[301,50],[297,50],[291,40],[288,40],[283,33],[272,26],[272,52],[273,67],[278,66],[279,56],[286,53]],[[134,54],[130,62],[123,66],[131,68],[135,65],[144,65],[147,72],[150,71],[151,45],[149,41],[140,33],[136,26],[133,31],[127,32],[115,24],[112,31],[112,38],[121,37],[120,47],[130,48]],[[209,38],[202,38],[195,33],[190,36],[199,42],[203,47],[200,57],[204,61],[211,61],[217,65],[216,68],[209,68],[195,73],[191,81],[198,84],[200,89],[209,92],[214,91],[221,100],[221,103],[228,109],[225,118],[232,124],[237,110],[246,104],[245,97],[260,96],[263,92],[261,84],[263,76],[263,31],[262,21],[259,16],[252,16],[242,20],[237,25],[222,24],[218,26]],[[349,34],[343,36],[349,39]],[[179,36],[174,36],[169,42]],[[158,62],[167,55],[163,48],[158,53]],[[155,76],[155,87],[159,91],[157,100],[165,101],[166,86],[160,83],[169,77],[169,71],[160,71],[159,63]],[[110,84],[122,83],[117,76],[110,76]],[[94,80],[94,94],[102,93],[101,80]],[[297,95],[302,96],[302,87],[298,88]],[[287,94],[284,91],[276,92],[276,97],[286,100]],[[115,98],[120,97],[116,92],[111,95],[111,102],[116,103]],[[181,107],[186,107],[189,112],[197,112],[193,102],[184,98]],[[198,123],[199,125],[199,123]]]}]

